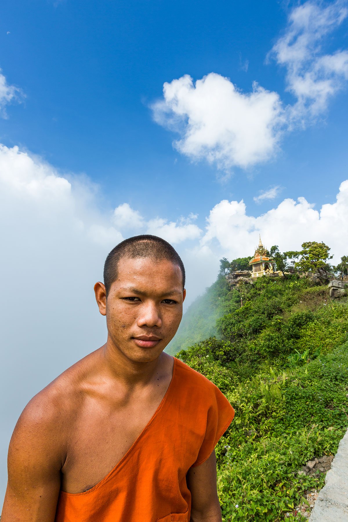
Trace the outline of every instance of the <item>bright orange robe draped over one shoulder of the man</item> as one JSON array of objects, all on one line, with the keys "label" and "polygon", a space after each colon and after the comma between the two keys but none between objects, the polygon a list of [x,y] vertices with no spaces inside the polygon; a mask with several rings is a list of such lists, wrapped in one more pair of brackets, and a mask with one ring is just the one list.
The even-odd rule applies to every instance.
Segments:
[{"label": "bright orange robe draped over one shoulder of the man", "polygon": [[219,388],[174,358],[152,419],[92,489],[59,494],[55,522],[188,522],[189,468],[211,455],[234,417]]}]

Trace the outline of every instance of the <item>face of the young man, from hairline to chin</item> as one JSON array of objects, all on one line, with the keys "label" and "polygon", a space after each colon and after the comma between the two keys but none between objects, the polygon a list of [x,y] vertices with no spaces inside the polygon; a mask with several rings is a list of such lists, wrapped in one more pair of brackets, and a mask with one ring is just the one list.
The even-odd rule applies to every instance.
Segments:
[{"label": "face of the young man, from hairline to chin", "polygon": [[170,261],[122,258],[106,299],[109,340],[136,362],[157,359],[183,314],[183,276]]}]

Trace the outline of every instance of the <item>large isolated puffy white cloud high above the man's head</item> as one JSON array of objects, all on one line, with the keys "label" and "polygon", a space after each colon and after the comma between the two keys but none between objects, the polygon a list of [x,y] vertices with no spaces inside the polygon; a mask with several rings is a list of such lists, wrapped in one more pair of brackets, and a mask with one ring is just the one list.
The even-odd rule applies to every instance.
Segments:
[{"label": "large isolated puffy white cloud high above the man's head", "polygon": [[152,105],[154,119],[182,138],[174,146],[194,160],[222,169],[249,167],[269,159],[279,141],[283,113],[277,93],[257,84],[243,93],[210,73],[194,84],[185,75],[163,87],[164,101]]}]

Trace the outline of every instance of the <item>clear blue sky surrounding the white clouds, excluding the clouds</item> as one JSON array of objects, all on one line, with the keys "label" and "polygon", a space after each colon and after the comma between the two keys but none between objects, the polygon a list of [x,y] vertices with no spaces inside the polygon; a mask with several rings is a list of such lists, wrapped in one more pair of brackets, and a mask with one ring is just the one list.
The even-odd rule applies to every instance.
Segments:
[{"label": "clear blue sky surrounding the white clouds, excluding the clouds", "polygon": [[[285,69],[267,53],[286,28],[291,4],[159,1],[3,2],[0,66],[25,99],[7,108],[2,143],[20,145],[63,172],[86,173],[100,184],[105,205],[126,201],[147,217],[205,219],[212,203],[244,199],[258,215],[274,201],[253,197],[281,185],[278,200],[334,199],[344,177],[346,91],[306,131],[281,139],[281,150],[247,171],[234,167],[225,183],[216,165],[191,163],[173,149],[149,105],[165,81],[214,72],[244,92],[257,81],[294,103]],[[9,31],[9,34],[7,34]],[[325,51],[346,46],[347,24],[324,39]],[[246,64],[248,64],[247,70]],[[330,171],[330,186],[318,187]],[[193,192],[195,200],[193,201]],[[170,197],[169,197],[170,195]],[[149,201],[150,198],[150,201]],[[155,201],[155,204],[154,204]]]}]

